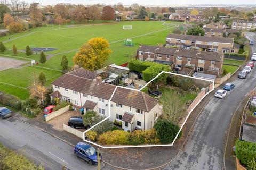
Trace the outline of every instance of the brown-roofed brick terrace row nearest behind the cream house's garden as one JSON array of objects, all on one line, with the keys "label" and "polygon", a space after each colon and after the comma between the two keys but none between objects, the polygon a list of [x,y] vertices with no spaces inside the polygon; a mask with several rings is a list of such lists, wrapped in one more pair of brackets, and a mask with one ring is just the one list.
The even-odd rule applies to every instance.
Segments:
[{"label": "brown-roofed brick terrace row nearest behind the cream house's garden", "polygon": [[[137,59],[141,61],[166,61],[175,69],[191,74],[189,70],[219,77],[222,73],[224,54],[180,48],[141,45],[137,49]],[[186,68],[186,69],[185,69]],[[185,69],[185,70],[183,70]]]}]

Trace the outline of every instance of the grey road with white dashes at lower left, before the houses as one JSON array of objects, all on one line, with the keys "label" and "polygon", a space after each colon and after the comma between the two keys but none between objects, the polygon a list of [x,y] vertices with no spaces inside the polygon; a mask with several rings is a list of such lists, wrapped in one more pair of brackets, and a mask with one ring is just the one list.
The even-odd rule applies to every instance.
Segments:
[{"label": "grey road with white dashes at lower left, before the houses", "polygon": [[0,143],[23,152],[45,169],[62,169],[63,165],[72,170],[97,169],[74,157],[72,146],[13,117],[0,121]]}]

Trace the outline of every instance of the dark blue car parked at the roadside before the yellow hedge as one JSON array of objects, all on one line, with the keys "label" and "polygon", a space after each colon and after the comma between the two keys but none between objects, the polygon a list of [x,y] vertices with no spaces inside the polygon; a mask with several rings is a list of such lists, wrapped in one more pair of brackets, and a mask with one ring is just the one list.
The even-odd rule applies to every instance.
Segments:
[{"label": "dark blue car parked at the roadside before the yellow hedge", "polygon": [[[97,150],[91,145],[79,142],[74,148],[74,154],[76,157],[80,157],[86,160],[90,165],[97,165]],[[102,154],[100,153],[100,159],[102,159]]]}]

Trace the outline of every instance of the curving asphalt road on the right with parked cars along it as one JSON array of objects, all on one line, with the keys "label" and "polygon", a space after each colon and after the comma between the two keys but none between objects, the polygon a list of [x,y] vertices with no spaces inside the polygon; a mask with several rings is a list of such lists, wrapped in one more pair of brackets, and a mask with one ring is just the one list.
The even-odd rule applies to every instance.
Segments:
[{"label": "curving asphalt road on the right with parked cars along it", "polygon": [[[256,42],[255,33],[246,33]],[[256,53],[255,45],[252,46]],[[213,97],[203,109],[180,154],[164,169],[224,169],[225,140],[231,118],[240,101],[256,87],[256,68],[246,79],[236,79],[226,98]],[[234,169],[226,166],[226,169]]]}]

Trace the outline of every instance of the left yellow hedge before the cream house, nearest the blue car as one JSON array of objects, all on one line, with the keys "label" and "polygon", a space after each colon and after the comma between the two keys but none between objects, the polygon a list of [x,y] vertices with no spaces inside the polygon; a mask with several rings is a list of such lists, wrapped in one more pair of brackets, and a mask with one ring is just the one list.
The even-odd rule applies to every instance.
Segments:
[{"label": "left yellow hedge before the cream house, nearest the blue car", "polygon": [[102,145],[126,145],[128,141],[129,132],[123,130],[115,130],[105,132],[98,137],[98,142]]}]

